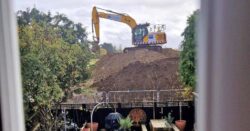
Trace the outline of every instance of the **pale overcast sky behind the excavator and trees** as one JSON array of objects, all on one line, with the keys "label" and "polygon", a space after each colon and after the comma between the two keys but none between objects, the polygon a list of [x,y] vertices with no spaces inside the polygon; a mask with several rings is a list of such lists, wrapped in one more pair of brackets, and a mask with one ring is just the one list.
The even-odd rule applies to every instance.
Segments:
[{"label": "pale overcast sky behind the excavator and trees", "polygon": [[[14,0],[16,10],[36,7],[52,14],[59,12],[75,22],[82,23],[91,33],[93,6],[126,13],[137,23],[165,24],[168,43],[164,47],[178,49],[187,17],[199,8],[198,0]],[[101,19],[100,42],[119,47],[132,46],[131,29],[123,23]]]}]

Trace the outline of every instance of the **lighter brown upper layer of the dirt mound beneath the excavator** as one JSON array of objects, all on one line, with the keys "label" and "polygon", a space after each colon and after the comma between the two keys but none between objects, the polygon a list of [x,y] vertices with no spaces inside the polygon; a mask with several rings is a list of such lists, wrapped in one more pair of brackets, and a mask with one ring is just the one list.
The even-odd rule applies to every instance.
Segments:
[{"label": "lighter brown upper layer of the dirt mound beneath the excavator", "polygon": [[[100,81],[104,81],[104,79],[107,79],[108,77],[115,76],[115,74],[132,63],[139,62],[147,65],[153,61],[178,56],[178,51],[169,48],[163,49],[162,53],[141,49],[130,53],[107,55],[104,56],[96,65],[93,72],[94,83],[98,83]],[[160,64],[158,65],[160,66]],[[143,69],[141,70],[143,71]],[[130,76],[131,75],[127,74],[127,77]]]}]

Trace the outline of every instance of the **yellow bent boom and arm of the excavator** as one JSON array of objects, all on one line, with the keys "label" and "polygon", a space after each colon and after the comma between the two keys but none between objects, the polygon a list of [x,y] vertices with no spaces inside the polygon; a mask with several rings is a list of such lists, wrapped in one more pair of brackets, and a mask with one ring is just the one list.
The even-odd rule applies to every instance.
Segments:
[{"label": "yellow bent boom and arm of the excavator", "polygon": [[[98,12],[97,9],[103,10],[105,12]],[[99,43],[100,40],[100,20],[99,18],[109,19],[113,21],[118,21],[127,24],[131,29],[134,29],[137,26],[136,21],[126,14],[117,13],[110,10],[101,9],[98,7],[93,7],[92,10],[92,33],[95,33],[93,36],[94,42]]]}]

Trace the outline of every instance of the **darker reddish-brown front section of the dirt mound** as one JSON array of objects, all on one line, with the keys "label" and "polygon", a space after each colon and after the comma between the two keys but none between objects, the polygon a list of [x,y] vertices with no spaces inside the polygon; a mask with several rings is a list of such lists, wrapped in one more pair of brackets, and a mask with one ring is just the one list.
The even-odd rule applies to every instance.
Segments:
[{"label": "darker reddish-brown front section of the dirt mound", "polygon": [[176,89],[180,88],[177,69],[178,58],[165,58],[147,64],[136,61],[93,86],[99,91]]}]

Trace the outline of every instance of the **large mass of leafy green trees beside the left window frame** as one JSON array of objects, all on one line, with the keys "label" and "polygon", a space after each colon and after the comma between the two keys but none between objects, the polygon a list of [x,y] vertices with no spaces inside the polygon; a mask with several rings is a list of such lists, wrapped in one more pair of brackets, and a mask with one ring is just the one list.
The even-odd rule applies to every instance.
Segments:
[{"label": "large mass of leafy green trees beside the left window frame", "polygon": [[64,15],[35,8],[18,11],[17,20],[26,128],[55,130],[52,107],[89,77],[87,33]]}]

